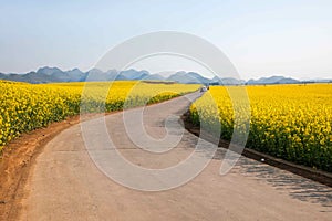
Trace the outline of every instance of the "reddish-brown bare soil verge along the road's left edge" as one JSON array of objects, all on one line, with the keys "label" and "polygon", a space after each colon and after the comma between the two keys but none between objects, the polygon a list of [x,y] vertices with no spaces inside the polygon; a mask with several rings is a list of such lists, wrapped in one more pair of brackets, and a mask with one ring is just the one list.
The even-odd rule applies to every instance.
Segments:
[{"label": "reddish-brown bare soil verge along the road's left edge", "polygon": [[3,150],[0,158],[0,220],[13,213],[12,207],[19,198],[19,186],[28,179],[30,167],[43,146],[59,133],[77,124],[80,116],[53,123],[46,128],[40,128],[12,140]]}]

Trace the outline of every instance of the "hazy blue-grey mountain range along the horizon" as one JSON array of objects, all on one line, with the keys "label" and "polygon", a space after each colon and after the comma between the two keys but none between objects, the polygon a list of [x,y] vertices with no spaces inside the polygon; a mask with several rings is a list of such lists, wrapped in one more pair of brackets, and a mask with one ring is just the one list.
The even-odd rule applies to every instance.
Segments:
[{"label": "hazy blue-grey mountain range along the horizon", "polygon": [[[237,80],[232,77],[219,78],[207,78],[195,72],[175,72],[168,77],[164,77],[160,74],[151,74],[148,71],[137,71],[134,69],[117,71],[110,70],[103,72],[97,69],[92,69],[87,72],[82,72],[79,69],[70,71],[62,71],[58,67],[41,67],[37,72],[29,72],[25,74],[3,74],[0,73],[0,80],[27,82],[32,84],[40,83],[56,83],[56,82],[92,82],[92,81],[126,81],[126,80],[138,80],[138,81],[169,81],[183,84],[211,84],[211,85],[260,85],[260,84],[297,84],[301,83],[298,80],[283,77],[283,76],[271,76],[261,77],[259,80]],[[308,82],[308,81],[307,81]],[[323,82],[332,82],[332,80],[324,80]],[[313,82],[314,83],[314,82]]]}]

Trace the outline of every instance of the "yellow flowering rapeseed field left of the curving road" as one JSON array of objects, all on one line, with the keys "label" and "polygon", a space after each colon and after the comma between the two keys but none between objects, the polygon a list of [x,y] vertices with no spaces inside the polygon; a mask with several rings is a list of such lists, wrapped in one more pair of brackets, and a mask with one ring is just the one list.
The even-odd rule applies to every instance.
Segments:
[{"label": "yellow flowering rapeseed field left of the curving road", "polygon": [[[84,87],[85,85],[85,87]],[[165,101],[196,91],[198,85],[147,84],[134,81],[110,83],[25,84],[0,81],[0,149],[21,133],[84,112],[112,112],[128,106]],[[103,97],[103,94],[106,97]],[[105,108],[101,108],[105,107]]]}]

